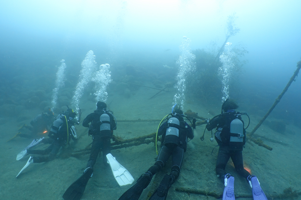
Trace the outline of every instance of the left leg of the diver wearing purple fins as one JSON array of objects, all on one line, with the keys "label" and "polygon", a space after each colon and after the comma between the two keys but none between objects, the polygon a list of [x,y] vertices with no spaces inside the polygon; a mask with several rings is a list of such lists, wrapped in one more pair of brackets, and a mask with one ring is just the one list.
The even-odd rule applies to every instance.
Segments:
[{"label": "left leg of the diver wearing purple fins", "polygon": [[218,177],[222,178],[226,175],[225,168],[230,158],[229,146],[220,145],[219,154],[217,155],[215,171]]}]

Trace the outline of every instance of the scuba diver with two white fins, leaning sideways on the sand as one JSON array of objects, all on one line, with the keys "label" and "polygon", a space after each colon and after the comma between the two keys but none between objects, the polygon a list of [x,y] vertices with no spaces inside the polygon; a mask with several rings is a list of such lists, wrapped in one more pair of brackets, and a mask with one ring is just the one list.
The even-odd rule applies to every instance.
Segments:
[{"label": "scuba diver with two white fins, leaning sideways on the sand", "polygon": [[[41,157],[30,156],[26,165],[19,172],[19,174],[31,163],[42,163],[53,160],[60,148],[66,147],[71,139],[74,142],[77,142],[77,136],[74,127],[75,124],[78,124],[78,121],[76,121],[76,113],[73,111],[73,109],[68,107],[67,112],[61,114],[61,117],[56,119],[51,126],[51,130],[48,134],[48,137],[51,138],[52,141],[51,145],[45,150],[32,150],[30,149],[32,146],[29,145],[25,150],[21,151],[17,155],[17,160],[20,160],[27,154],[49,155]],[[19,174],[17,176],[19,176]]]}]

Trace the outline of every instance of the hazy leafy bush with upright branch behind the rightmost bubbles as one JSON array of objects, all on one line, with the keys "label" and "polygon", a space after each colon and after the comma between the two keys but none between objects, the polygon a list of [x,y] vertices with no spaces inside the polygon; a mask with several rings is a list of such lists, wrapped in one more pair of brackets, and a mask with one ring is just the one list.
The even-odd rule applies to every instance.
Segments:
[{"label": "hazy leafy bush with upright branch behind the rightmost bubbles", "polygon": [[[223,96],[221,88],[224,88],[223,85],[225,84],[223,84],[221,80],[224,80],[225,77],[222,76],[222,79],[220,79],[219,76],[219,71],[223,68],[222,60],[219,58],[224,55],[223,52],[231,54],[231,71],[233,72],[240,72],[242,66],[247,63],[247,60],[241,61],[239,59],[248,53],[244,44],[237,43],[233,47],[225,50],[225,46],[229,46],[227,45],[228,39],[240,31],[240,28],[235,27],[234,24],[235,19],[237,19],[235,14],[236,13],[233,13],[228,16],[225,26],[225,42],[220,48],[217,47],[216,42],[211,42],[211,46],[207,50],[195,49],[192,51],[196,56],[194,60],[196,62],[196,70],[193,79],[188,80],[187,88],[188,93],[192,94],[194,97],[209,101],[216,99],[216,97]],[[231,78],[233,76],[233,73],[227,74],[227,79],[229,80],[227,85],[229,88],[232,88],[233,81]],[[231,93],[231,91],[227,92]]]}]

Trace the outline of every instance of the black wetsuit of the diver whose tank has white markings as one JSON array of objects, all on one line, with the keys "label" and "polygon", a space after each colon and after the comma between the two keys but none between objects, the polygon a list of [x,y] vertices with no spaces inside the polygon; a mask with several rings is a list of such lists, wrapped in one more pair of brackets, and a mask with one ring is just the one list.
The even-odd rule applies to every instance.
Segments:
[{"label": "black wetsuit of the diver whose tank has white markings", "polygon": [[[168,123],[163,123],[159,130],[158,135],[161,136],[161,150],[157,156],[156,162],[151,166],[147,172],[151,172],[152,175],[159,172],[166,161],[172,156],[172,168],[170,175],[174,176],[173,182],[178,178],[184,159],[184,152],[187,149],[187,139],[193,139],[194,134],[192,128],[183,120],[182,117],[178,117],[180,121],[179,125],[179,136],[178,136],[178,145],[170,146],[166,144],[166,129],[168,128]],[[173,183],[172,182],[172,183]]]}]

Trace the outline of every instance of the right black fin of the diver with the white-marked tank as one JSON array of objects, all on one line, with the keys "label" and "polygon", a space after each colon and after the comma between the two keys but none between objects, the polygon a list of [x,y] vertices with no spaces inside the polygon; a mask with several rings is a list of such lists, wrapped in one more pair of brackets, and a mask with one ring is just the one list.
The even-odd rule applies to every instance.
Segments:
[{"label": "right black fin of the diver with the white-marked tank", "polygon": [[173,179],[171,175],[164,175],[159,187],[149,200],[165,200]]}]

